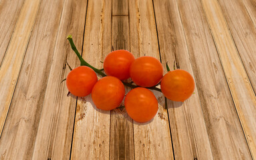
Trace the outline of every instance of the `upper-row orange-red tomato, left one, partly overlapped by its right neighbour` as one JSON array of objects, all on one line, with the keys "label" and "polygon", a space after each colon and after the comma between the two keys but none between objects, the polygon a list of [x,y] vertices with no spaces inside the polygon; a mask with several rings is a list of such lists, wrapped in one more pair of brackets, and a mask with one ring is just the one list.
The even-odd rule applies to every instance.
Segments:
[{"label": "upper-row orange-red tomato, left one, partly overlapped by its right neighbour", "polygon": [[120,80],[128,79],[130,77],[130,65],[134,60],[134,55],[129,51],[112,51],[104,59],[104,71],[106,75],[117,77]]}]

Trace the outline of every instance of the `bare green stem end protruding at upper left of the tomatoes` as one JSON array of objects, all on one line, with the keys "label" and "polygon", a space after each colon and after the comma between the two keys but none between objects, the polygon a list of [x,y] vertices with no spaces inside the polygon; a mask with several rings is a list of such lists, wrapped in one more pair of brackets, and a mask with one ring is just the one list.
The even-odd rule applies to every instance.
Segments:
[{"label": "bare green stem end protruding at upper left of the tomatoes", "polygon": [[68,41],[70,41],[70,45],[71,48],[73,49],[73,51],[76,53],[76,55],[78,56],[78,59],[80,60],[80,65],[85,65],[87,67],[90,67],[91,69],[93,69],[96,73],[98,73],[99,75],[102,75],[102,77],[105,77],[105,73],[103,73],[102,71],[100,71],[100,69],[96,69],[95,67],[93,67],[92,65],[90,65],[89,63],[87,63],[86,61],[84,61],[83,57],[80,55],[80,53],[78,52],[78,49],[76,49],[76,45],[74,44],[74,41],[72,39],[72,35],[68,35],[67,37]]}]

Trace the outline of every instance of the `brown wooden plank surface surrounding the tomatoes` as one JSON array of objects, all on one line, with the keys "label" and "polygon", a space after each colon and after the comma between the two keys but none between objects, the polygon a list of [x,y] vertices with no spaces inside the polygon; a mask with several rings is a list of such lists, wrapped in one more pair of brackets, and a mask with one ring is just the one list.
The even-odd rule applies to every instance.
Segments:
[{"label": "brown wooden plank surface surrounding the tomatoes", "polygon": [[[0,159],[256,159],[255,3],[0,0]],[[116,49],[156,57],[164,73],[175,61],[195,94],[154,91],[149,123],[67,97],[66,61],[80,65],[70,34],[99,69]]]}]

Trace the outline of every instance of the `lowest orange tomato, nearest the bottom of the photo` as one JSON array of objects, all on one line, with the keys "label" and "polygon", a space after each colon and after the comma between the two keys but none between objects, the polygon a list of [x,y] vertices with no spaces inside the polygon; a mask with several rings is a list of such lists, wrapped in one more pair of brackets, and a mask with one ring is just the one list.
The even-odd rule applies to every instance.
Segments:
[{"label": "lowest orange tomato, nearest the bottom of the photo", "polygon": [[158,111],[158,101],[149,89],[138,87],[132,89],[124,99],[128,115],[140,123],[150,121]]}]

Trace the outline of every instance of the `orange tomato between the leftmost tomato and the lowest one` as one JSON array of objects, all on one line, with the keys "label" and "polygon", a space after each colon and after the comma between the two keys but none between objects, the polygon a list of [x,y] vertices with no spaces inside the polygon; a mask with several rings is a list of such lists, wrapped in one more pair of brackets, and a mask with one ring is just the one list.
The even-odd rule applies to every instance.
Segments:
[{"label": "orange tomato between the leftmost tomato and the lowest one", "polygon": [[92,101],[102,110],[112,110],[118,107],[124,99],[124,85],[116,77],[106,76],[100,79],[92,89]]}]

